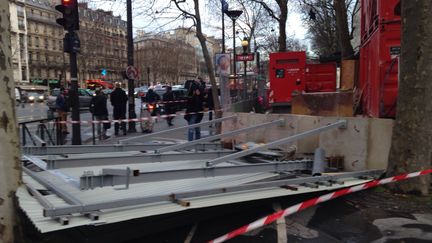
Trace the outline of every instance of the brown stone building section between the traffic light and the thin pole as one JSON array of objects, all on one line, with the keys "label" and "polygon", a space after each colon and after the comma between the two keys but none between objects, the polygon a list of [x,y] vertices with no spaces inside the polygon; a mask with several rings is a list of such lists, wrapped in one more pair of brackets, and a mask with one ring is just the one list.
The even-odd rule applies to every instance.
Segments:
[{"label": "brown stone building section between the traffic light and the thin pole", "polygon": [[112,11],[90,9],[87,3],[79,3],[79,15],[79,80],[122,81],[127,67],[126,21]]}]

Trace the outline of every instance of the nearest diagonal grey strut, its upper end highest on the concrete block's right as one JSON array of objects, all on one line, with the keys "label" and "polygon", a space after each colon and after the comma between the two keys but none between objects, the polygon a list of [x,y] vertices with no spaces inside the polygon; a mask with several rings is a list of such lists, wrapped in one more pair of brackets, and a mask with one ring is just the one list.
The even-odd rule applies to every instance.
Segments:
[{"label": "nearest diagonal grey strut, its upper end highest on the concrete block's right", "polygon": [[273,142],[270,142],[270,143],[267,143],[264,145],[260,145],[260,146],[257,146],[257,147],[251,148],[251,149],[246,149],[246,150],[243,150],[241,152],[237,152],[237,153],[233,153],[233,154],[223,156],[223,157],[220,157],[217,159],[209,160],[206,162],[206,166],[214,166],[214,165],[217,165],[219,163],[222,163],[222,162],[225,162],[225,161],[228,161],[231,159],[241,158],[243,156],[253,154],[253,153],[256,153],[256,152],[264,150],[264,149],[273,148],[273,147],[276,147],[276,146],[279,146],[282,144],[294,142],[294,141],[297,141],[299,139],[306,138],[306,137],[309,137],[312,135],[316,135],[316,134],[319,134],[323,131],[327,131],[330,129],[334,129],[334,128],[338,128],[338,127],[346,127],[346,124],[347,124],[346,120],[340,120],[340,121],[337,121],[335,123],[328,124],[328,125],[323,126],[323,127],[315,128],[315,129],[312,129],[312,130],[309,130],[306,132],[302,132],[302,133],[296,134],[296,135],[291,136],[291,137],[279,139],[279,140],[276,140],[276,141],[273,141]]}]

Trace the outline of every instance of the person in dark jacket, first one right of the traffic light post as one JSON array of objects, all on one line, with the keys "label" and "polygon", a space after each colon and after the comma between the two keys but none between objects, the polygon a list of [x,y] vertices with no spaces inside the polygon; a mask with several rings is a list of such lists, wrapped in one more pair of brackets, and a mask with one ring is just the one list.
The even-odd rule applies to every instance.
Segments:
[{"label": "person in dark jacket, first one right of the traffic light post", "polygon": [[[111,122],[106,122],[108,120],[107,97],[100,89],[96,90],[96,96],[92,98],[90,111],[93,113],[96,121],[99,121],[96,124],[99,140],[108,139],[109,136],[106,135],[106,131],[111,128]],[[102,121],[105,122],[102,123]]]}]

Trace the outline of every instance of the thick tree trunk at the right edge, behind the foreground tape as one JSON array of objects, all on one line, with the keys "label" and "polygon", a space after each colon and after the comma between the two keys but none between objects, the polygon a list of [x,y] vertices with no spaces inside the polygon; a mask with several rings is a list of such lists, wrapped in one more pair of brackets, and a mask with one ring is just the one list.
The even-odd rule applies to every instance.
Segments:
[{"label": "thick tree trunk at the right edge, behind the foreground tape", "polygon": [[[432,139],[432,1],[402,1],[402,52],[397,116],[387,173],[430,168]],[[393,185],[428,194],[430,176]]]}]

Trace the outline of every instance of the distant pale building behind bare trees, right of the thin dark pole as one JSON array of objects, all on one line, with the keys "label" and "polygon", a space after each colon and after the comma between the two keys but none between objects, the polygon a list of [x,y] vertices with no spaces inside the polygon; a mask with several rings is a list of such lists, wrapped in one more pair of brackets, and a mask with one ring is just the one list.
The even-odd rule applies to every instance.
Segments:
[{"label": "distant pale building behind bare trees, right of the thin dark pole", "polygon": [[[206,38],[207,49],[214,61],[216,53],[221,50],[220,40]],[[159,35],[139,32],[134,43],[134,60],[144,84],[176,84],[197,76],[209,76],[201,44],[194,30],[177,28],[172,33]]]}]

